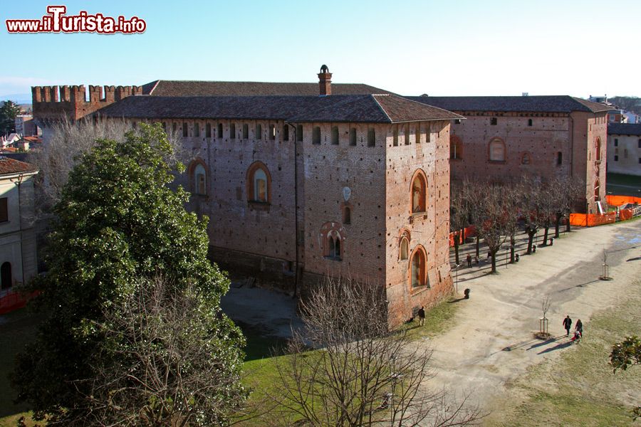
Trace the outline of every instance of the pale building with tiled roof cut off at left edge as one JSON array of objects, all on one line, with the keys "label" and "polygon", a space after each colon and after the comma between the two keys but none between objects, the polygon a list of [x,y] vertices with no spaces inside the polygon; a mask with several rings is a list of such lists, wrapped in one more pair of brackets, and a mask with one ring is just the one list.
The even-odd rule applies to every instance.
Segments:
[{"label": "pale building with tiled roof cut off at left edge", "polygon": [[1,294],[37,273],[31,164],[0,157]]}]

